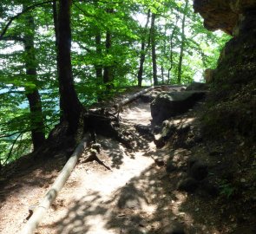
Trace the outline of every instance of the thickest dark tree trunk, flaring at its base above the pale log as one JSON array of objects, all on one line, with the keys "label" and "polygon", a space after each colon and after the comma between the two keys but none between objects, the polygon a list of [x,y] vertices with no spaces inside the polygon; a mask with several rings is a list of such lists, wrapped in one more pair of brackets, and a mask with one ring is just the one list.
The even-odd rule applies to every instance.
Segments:
[{"label": "thickest dark tree trunk, flaring at its base above the pale log", "polygon": [[59,23],[58,23],[58,81],[60,92],[60,107],[63,120],[69,123],[69,133],[76,132],[79,124],[82,104],[75,92],[74,79],[71,67],[71,28],[70,28],[70,7],[71,0],[60,0],[59,2]]}]

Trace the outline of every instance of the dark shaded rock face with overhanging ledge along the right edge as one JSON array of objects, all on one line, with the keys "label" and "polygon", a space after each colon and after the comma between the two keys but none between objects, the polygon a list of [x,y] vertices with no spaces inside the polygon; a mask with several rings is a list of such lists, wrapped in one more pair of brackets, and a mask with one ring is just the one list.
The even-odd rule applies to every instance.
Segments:
[{"label": "dark shaded rock face with overhanging ledge along the right edge", "polygon": [[233,129],[256,139],[256,0],[194,0],[207,29],[233,35],[213,70],[204,122],[209,134]]}]

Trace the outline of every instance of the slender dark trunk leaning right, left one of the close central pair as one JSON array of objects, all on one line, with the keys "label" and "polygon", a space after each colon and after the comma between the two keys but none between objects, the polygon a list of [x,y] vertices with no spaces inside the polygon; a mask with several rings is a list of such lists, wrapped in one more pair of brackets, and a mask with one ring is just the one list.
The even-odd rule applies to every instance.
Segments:
[{"label": "slender dark trunk leaning right, left one of the close central pair", "polygon": [[[137,79],[138,79],[138,87],[141,87],[142,84],[142,76],[143,76],[143,68],[144,68],[144,62],[145,62],[145,57],[146,57],[146,37],[148,34],[148,23],[150,19],[150,10],[148,10],[148,16],[147,16],[147,22],[144,28],[143,36],[142,36],[142,41],[141,41],[141,58],[140,58],[140,68],[138,71]],[[150,43],[150,42],[149,42]]]}]

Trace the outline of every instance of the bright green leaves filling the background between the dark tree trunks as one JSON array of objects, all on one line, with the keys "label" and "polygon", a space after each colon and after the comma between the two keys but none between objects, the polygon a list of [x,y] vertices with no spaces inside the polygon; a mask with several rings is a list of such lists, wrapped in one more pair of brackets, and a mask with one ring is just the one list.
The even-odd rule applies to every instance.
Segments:
[{"label": "bright green leaves filling the background between the dark tree trunks", "polygon": [[[39,0],[3,0],[0,6],[0,33],[12,16],[24,8],[41,3]],[[108,10],[113,10],[109,13]],[[202,27],[200,16],[195,15],[191,1],[184,12],[184,1],[133,0],[81,1],[72,6],[72,66],[77,94],[86,107],[121,92],[121,87],[135,85],[141,53],[146,55],[143,84],[152,83],[152,60],[148,45],[149,29],[145,29],[148,10],[156,14],[155,38],[159,79],[177,83],[181,48],[181,18],[186,14],[186,38],[181,82],[200,77],[205,68],[215,68],[220,49],[229,39],[213,34]],[[27,17],[33,17],[29,27]],[[140,20],[138,20],[138,18]],[[150,23],[149,23],[150,25]],[[111,35],[111,46],[106,37]],[[52,4],[27,11],[18,16],[0,40],[0,160],[10,162],[32,150],[30,131],[43,116],[45,134],[59,121],[59,94],[56,63],[56,36]],[[34,49],[25,52],[24,36],[31,36]],[[96,42],[95,36],[100,36]],[[16,38],[9,40],[10,37]],[[9,38],[9,39],[8,39]],[[22,39],[22,40],[21,40]],[[141,40],[146,41],[141,51]],[[37,75],[26,75],[26,66],[36,68]],[[110,67],[113,79],[104,83],[96,77],[96,68]],[[109,85],[114,87],[108,90]],[[27,94],[38,90],[43,113],[30,114]],[[122,90],[123,91],[123,90]]]}]

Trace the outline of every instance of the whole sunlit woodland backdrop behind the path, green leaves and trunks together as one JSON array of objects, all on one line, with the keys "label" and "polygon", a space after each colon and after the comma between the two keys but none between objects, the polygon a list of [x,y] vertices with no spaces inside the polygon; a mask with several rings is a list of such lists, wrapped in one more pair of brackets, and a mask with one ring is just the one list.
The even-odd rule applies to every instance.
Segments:
[{"label": "whole sunlit woodland backdrop behind the path, green leaves and trunks together", "polygon": [[202,81],[227,39],[190,0],[1,1],[0,166],[117,88]]}]

